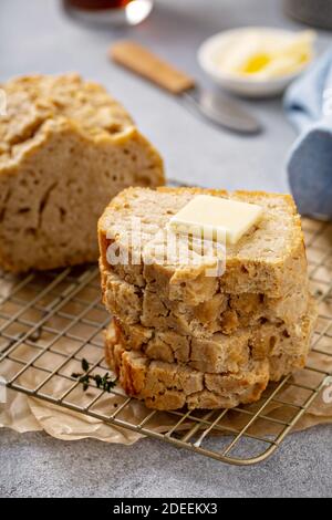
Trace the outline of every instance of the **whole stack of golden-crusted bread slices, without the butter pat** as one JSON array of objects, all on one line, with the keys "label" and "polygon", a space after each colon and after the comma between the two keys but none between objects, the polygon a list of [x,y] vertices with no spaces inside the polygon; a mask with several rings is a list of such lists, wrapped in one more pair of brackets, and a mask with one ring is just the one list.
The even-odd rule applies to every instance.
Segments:
[{"label": "whole stack of golden-crusted bread slices, without the butter pat", "polygon": [[[227,246],[222,273],[195,248],[168,251],[167,227],[200,194],[252,202],[261,219]],[[134,225],[133,225],[134,222]],[[290,196],[199,188],[128,188],[98,222],[106,360],[151,408],[232,408],[303,367],[317,310],[300,217]],[[211,242],[212,243],[212,242]],[[173,256],[172,256],[173,254]]]}]

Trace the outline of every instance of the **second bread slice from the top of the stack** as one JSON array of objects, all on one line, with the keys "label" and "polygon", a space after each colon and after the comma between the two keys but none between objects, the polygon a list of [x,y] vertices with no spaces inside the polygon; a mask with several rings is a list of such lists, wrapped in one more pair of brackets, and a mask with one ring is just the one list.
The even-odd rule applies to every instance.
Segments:
[{"label": "second bread slice from the top of the stack", "polygon": [[154,284],[133,285],[100,262],[103,301],[106,309],[122,322],[159,330],[172,329],[179,334],[210,337],[216,332],[232,334],[238,329],[263,321],[278,324],[297,323],[308,310],[307,285],[294,288],[283,298],[260,293],[227,294],[217,292],[198,305],[169,300]]}]

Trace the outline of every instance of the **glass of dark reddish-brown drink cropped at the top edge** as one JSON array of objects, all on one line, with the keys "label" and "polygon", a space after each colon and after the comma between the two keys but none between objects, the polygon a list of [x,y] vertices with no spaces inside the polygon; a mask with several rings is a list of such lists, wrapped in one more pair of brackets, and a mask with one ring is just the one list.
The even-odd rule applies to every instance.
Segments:
[{"label": "glass of dark reddish-brown drink cropped at the top edge", "polygon": [[152,11],[154,0],[64,0],[71,15],[87,22],[136,25]]}]

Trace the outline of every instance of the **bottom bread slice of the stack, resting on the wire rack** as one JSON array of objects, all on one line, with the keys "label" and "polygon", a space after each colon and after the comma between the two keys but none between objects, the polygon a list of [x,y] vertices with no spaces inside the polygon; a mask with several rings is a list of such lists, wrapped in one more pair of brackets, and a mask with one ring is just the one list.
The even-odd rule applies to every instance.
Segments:
[{"label": "bottom bread slice of the stack, resting on the wire rack", "polygon": [[267,361],[251,361],[237,374],[208,374],[176,363],[149,361],[108,335],[106,360],[127,395],[148,408],[234,408],[258,401],[269,382]]}]

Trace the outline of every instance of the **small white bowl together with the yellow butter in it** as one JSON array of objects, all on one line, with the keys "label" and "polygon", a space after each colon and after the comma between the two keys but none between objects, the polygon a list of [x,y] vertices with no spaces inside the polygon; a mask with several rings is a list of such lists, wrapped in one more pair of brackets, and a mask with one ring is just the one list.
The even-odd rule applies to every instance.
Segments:
[{"label": "small white bowl together with the yellow butter in it", "polygon": [[198,61],[216,83],[234,94],[279,95],[312,62],[314,39],[310,30],[235,29],[206,40]]}]

